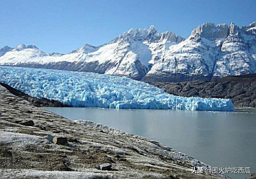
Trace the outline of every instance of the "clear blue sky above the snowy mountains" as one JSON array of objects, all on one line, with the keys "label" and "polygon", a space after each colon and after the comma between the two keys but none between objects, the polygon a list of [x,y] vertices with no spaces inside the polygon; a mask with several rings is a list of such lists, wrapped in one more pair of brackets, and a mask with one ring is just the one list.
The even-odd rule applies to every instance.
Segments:
[{"label": "clear blue sky above the snowy mountains", "polygon": [[24,43],[67,53],[151,24],[188,37],[204,22],[254,21],[256,0],[1,0],[0,47]]}]

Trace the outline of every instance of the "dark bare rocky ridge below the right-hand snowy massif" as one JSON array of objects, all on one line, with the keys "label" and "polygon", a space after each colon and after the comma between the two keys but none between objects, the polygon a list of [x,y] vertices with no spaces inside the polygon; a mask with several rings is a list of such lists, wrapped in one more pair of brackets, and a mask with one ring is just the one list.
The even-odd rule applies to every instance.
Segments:
[{"label": "dark bare rocky ridge below the right-hand snowy massif", "polygon": [[256,107],[256,73],[222,77],[213,81],[150,84],[177,96],[230,98],[236,107]]}]

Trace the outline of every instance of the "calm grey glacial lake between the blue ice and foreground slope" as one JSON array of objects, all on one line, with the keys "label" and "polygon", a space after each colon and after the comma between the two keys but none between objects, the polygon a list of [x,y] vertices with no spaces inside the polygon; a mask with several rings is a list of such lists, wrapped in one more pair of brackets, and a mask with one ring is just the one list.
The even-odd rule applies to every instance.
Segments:
[{"label": "calm grey glacial lake between the blue ice and foreground slope", "polygon": [[[256,172],[256,109],[234,112],[108,108],[43,109],[70,120],[90,120],[144,136],[212,167],[250,167]],[[248,174],[231,174],[245,179]]]}]

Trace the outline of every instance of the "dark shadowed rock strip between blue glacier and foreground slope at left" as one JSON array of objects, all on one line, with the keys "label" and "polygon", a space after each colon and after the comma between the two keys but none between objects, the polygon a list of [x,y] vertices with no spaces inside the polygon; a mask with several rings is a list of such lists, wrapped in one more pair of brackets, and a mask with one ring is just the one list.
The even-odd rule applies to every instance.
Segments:
[{"label": "dark shadowed rock strip between blue glacier and foreground slope at left", "polygon": [[20,90],[16,90],[4,83],[0,83],[0,85],[5,87],[6,89],[8,89],[12,94],[31,102],[34,106],[37,106],[37,107],[43,107],[43,106],[44,107],[46,107],[46,106],[47,107],[68,107],[68,105],[62,104],[61,102],[58,102],[56,100],[48,100],[46,98],[39,99],[39,98],[29,96],[28,94],[25,94],[24,92],[21,92]]}]

